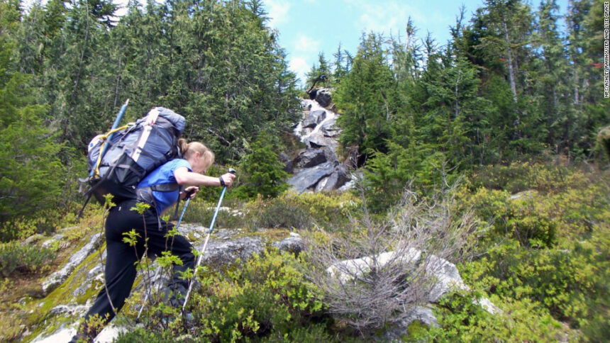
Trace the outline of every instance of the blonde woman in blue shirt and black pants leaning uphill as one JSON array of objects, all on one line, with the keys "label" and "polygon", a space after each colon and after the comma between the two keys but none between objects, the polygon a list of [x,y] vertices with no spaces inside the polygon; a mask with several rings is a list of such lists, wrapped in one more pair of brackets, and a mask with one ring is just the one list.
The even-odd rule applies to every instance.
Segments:
[{"label": "blonde woman in blue shirt and black pants leaning uphill", "polygon": [[[179,201],[179,198],[185,198],[187,193],[192,192],[190,196],[193,198],[199,191],[199,186],[231,186],[235,175],[226,173],[218,178],[204,175],[214,163],[214,152],[200,142],[187,143],[186,140],[180,139],[178,145],[184,159],[172,159],[150,172],[140,181],[138,190],[147,188],[150,190],[150,186],[160,184],[178,184],[185,187],[184,191],[151,190],[153,199],[147,199],[146,202],[153,203],[153,206],[145,210],[143,215],[131,210],[136,203],[142,202],[141,199],[121,201],[110,209],[106,219],[107,257],[104,275],[106,286],[99,292],[95,303],[84,316],[84,322],[80,325],[77,335],[72,337],[70,342],[77,342],[78,339],[92,342],[101,331],[101,325],[89,327],[87,321],[99,315],[105,325],[116,315],[115,311],[123,307],[135,280],[135,262],[138,262],[145,252],[145,238],[148,238],[148,254],[160,256],[167,249],[182,260],[182,266],[174,265],[173,279],[168,285],[174,293],[170,303],[174,306],[182,306],[182,299],[175,298],[175,294],[186,294],[189,286],[188,281],[179,279],[179,276],[180,272],[194,267],[192,245],[182,235],[173,236],[170,238],[172,242],[167,242],[165,235],[173,225],[161,220],[160,216],[172,207],[172,204]],[[125,237],[123,233],[132,229],[139,235],[136,244],[137,256],[134,247],[123,242]]]}]

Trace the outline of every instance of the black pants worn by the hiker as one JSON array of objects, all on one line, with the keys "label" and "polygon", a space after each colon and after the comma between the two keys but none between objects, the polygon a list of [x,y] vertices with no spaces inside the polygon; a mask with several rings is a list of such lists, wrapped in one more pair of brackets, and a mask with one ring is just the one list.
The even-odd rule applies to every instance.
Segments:
[{"label": "black pants worn by the hiker", "polygon": [[[179,272],[186,271],[187,268],[193,269],[195,265],[195,257],[189,241],[180,235],[166,238],[167,231],[171,230],[173,225],[161,220],[161,227],[159,227],[155,210],[146,210],[144,215],[140,215],[130,210],[135,203],[135,200],[119,203],[111,208],[106,219],[106,251],[108,254],[104,276],[112,305],[117,311],[123,307],[126,298],[131,293],[136,274],[135,263],[140,261],[145,252],[145,238],[148,237],[148,254],[160,256],[161,252],[168,250],[182,260],[182,266],[174,265],[172,280],[174,286],[182,283],[184,287],[188,287],[188,281],[179,279]],[[135,248],[123,242],[123,237],[126,237],[123,233],[132,229],[140,236]],[[84,319],[87,320],[90,316],[97,314],[102,318],[107,318],[106,322],[110,321],[115,313],[109,302],[109,296],[106,294],[106,288],[102,288]]]}]

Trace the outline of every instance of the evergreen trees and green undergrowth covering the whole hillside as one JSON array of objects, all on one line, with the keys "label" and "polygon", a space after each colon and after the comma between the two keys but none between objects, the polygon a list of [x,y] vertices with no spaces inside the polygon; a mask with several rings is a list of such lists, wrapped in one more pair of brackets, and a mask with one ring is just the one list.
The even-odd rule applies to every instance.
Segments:
[{"label": "evergreen trees and green undergrowth covering the whole hillside", "polygon": [[[215,152],[209,174],[238,170],[223,206],[245,215],[220,215],[219,228],[298,232],[306,247],[204,268],[194,324],[158,320],[179,317],[160,301],[117,342],[610,340],[604,1],[570,0],[560,13],[556,0],[483,0],[470,17],[455,13],[448,42],[404,18],[399,35],[362,33],[356,51],[320,54],[305,83],[331,90],[337,154],[358,177],[350,191],[303,194],[289,190],[280,157],[302,148],[292,131],[307,94],[262,1],[117,10],[0,0],[1,341],[49,330],[55,300],[41,282],[103,227],[104,206],[77,218],[78,179],[89,141],[127,99],[124,121],[171,108],[187,120],[184,137]],[[206,223],[217,199],[202,189],[185,221]],[[43,244],[58,232],[62,241]],[[413,294],[433,283],[421,266],[404,282],[397,268],[348,286],[326,273],[411,248],[455,264],[468,285],[430,308],[436,325],[396,333],[421,305]],[[118,322],[135,322],[138,297]]]}]

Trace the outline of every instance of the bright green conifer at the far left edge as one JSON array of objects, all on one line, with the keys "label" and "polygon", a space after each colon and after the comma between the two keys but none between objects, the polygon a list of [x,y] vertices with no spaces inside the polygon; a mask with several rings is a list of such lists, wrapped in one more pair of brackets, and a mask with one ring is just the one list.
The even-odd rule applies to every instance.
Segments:
[{"label": "bright green conifer at the far left edge", "polygon": [[[27,75],[11,72],[13,43],[9,33],[16,25],[14,8],[0,4],[0,223],[55,208],[62,193],[65,167],[57,158],[62,145],[43,119],[45,106],[35,105]],[[11,227],[11,225],[6,225]],[[2,230],[1,240],[19,237]]]}]

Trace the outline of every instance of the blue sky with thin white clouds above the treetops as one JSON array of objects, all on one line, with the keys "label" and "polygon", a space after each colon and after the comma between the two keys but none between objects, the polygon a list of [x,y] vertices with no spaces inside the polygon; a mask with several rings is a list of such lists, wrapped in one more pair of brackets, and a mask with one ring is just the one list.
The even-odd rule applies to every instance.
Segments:
[{"label": "blue sky with thin white clouds above the treetops", "polygon": [[[318,53],[333,60],[339,43],[355,54],[362,33],[404,36],[411,17],[418,37],[428,31],[438,43],[450,39],[449,26],[462,4],[466,21],[482,7],[483,0],[263,0],[270,21],[267,26],[279,31],[279,44],[288,54],[290,69],[297,77],[318,62]],[[530,1],[538,9],[539,0]],[[567,10],[567,0],[558,0],[560,13]]]}]

